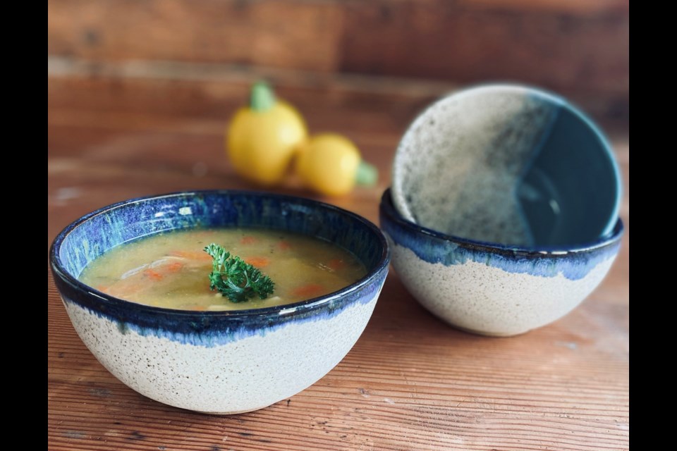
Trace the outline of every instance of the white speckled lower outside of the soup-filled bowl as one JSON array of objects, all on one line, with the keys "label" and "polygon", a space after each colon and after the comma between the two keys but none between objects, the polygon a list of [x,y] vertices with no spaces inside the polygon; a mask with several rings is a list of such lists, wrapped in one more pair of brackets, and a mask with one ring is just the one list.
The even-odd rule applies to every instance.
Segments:
[{"label": "white speckled lower outside of the soup-filled bowl", "polygon": [[212,347],[121,330],[74,302],[64,305],[87,348],[128,387],[174,407],[236,414],[267,407],[319,381],[358,340],[377,297],[328,318],[262,329]]}]

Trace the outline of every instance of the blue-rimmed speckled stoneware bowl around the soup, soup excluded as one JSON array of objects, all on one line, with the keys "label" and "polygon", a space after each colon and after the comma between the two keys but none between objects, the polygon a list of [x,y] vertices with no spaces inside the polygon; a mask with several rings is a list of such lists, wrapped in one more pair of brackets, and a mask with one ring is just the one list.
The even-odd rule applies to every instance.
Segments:
[{"label": "blue-rimmed speckled stoneware bowl around the soup, soup excluded", "polygon": [[[353,252],[367,275],[330,295],[240,311],[180,311],[127,302],[78,281],[107,250],[193,227],[264,227],[321,237]],[[369,321],[390,254],[374,224],[310,199],[238,191],[132,199],[66,227],[51,268],[80,338],[106,369],[142,395],[175,407],[233,414],[267,407],[322,378]]]}]

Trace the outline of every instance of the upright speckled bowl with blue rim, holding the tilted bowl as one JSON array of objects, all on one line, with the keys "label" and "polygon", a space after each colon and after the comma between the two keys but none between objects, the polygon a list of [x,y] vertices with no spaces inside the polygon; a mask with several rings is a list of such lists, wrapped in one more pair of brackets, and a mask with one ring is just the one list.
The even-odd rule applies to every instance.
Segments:
[{"label": "upright speckled bowl with blue rim, holding the tilted bowl", "polygon": [[444,235],[380,206],[392,263],[411,294],[456,328],[508,336],[568,314],[599,285],[618,254],[623,223],[585,245],[525,248]]}]

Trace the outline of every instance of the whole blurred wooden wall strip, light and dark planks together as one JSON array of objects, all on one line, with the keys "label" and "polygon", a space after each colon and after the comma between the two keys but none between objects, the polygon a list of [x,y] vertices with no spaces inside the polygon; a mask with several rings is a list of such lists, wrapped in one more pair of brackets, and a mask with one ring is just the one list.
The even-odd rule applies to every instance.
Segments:
[{"label": "whole blurred wooden wall strip, light and dark planks together", "polygon": [[627,0],[50,0],[48,53],[629,92]]}]

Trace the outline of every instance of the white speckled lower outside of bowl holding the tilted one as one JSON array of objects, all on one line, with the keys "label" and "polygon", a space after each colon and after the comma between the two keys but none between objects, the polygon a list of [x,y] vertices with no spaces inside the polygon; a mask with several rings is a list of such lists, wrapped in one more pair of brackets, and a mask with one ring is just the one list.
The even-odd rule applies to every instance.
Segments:
[{"label": "white speckled lower outside of bowl holding the tilted one", "polygon": [[432,314],[457,328],[509,336],[544,326],[572,311],[606,276],[614,257],[580,280],[509,273],[483,263],[445,266],[393,245],[393,267],[405,287]]}]

